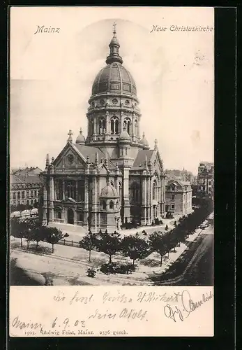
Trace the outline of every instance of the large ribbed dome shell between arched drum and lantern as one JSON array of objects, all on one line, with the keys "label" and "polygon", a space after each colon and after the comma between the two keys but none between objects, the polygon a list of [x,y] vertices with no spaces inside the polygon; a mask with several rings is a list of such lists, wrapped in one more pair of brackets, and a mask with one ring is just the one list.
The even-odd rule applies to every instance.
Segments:
[{"label": "large ribbed dome shell between arched drum and lantern", "polygon": [[120,62],[107,64],[96,76],[93,82],[92,94],[105,92],[122,92],[136,95],[135,80]]}]

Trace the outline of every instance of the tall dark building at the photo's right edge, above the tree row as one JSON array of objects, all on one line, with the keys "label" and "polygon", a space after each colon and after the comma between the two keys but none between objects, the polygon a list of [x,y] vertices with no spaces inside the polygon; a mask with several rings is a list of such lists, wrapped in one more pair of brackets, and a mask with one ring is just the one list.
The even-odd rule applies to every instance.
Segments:
[{"label": "tall dark building at the photo's right edge, above the tree row", "polygon": [[198,193],[202,197],[213,198],[214,192],[214,165],[211,162],[200,162],[197,174]]}]

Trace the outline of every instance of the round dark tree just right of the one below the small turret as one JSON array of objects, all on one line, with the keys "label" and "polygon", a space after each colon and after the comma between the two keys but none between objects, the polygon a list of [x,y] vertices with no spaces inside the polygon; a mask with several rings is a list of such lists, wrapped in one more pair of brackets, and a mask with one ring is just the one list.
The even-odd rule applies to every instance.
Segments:
[{"label": "round dark tree just right of the one below the small turret", "polygon": [[121,241],[121,251],[123,255],[133,260],[134,266],[135,260],[146,258],[149,246],[144,239],[130,235],[123,237]]}]

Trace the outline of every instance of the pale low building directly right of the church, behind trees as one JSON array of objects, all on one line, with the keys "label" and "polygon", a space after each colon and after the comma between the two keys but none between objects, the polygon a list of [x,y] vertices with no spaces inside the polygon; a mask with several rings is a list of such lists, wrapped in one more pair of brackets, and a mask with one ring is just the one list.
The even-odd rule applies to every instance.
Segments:
[{"label": "pale low building directly right of the church, behind trees", "polygon": [[165,211],[172,214],[190,214],[192,211],[192,188],[188,181],[171,180],[165,191]]}]

